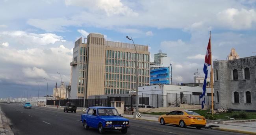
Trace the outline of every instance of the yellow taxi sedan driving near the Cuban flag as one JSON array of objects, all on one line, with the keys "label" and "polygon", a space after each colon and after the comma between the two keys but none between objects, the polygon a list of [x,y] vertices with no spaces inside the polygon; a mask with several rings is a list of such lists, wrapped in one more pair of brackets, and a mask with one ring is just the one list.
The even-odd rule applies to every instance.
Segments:
[{"label": "yellow taxi sedan driving near the Cuban flag", "polygon": [[197,129],[201,129],[206,126],[205,117],[193,111],[171,111],[165,115],[161,115],[158,118],[158,122],[160,122],[161,125],[174,124],[182,128],[193,126]]}]

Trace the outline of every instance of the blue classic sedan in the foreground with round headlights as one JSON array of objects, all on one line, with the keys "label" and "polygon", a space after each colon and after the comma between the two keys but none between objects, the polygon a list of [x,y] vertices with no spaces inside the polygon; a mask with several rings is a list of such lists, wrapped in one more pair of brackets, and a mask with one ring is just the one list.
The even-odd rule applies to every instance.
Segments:
[{"label": "blue classic sedan in the foreground with round headlights", "polygon": [[87,113],[81,115],[83,127],[98,129],[103,134],[106,130],[120,130],[127,133],[129,120],[121,117],[114,107],[89,107]]}]

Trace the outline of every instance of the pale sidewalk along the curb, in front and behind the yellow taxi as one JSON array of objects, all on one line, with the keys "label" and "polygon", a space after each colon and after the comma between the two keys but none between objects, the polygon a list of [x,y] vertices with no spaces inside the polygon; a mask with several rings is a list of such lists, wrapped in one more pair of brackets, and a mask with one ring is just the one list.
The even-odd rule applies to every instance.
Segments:
[{"label": "pale sidewalk along the curb, in front and behind the yellow taxi", "polygon": [[[130,119],[140,119],[140,118],[133,118],[133,115],[122,115],[122,116]],[[158,122],[157,117],[141,116],[141,120]],[[206,124],[206,126],[210,126],[210,125],[219,126],[219,128],[212,128],[215,130],[256,135],[256,122],[241,122],[241,123],[230,123],[230,124],[213,124],[213,123]]]}]

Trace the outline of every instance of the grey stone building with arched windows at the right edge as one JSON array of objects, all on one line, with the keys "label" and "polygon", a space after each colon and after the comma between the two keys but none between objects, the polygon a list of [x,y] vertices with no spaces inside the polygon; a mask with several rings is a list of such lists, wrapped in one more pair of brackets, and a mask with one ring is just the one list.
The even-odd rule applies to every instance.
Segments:
[{"label": "grey stone building with arched windows at the right edge", "polygon": [[215,108],[256,110],[256,56],[213,61]]}]

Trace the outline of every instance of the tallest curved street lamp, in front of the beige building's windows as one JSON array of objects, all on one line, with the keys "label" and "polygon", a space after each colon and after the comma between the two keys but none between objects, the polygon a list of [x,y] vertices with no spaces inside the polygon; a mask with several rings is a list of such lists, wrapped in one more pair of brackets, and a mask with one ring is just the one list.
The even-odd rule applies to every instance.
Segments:
[{"label": "tallest curved street lamp, in front of the beige building's windows", "polygon": [[[128,37],[128,36],[126,36],[126,38],[127,39],[129,39],[129,40],[131,40],[132,41],[132,43],[134,43],[134,40],[132,39],[132,37],[130,38],[130,37]],[[137,118],[137,116],[139,117],[139,118],[141,118],[140,116],[140,113],[139,113],[139,89],[138,89],[138,85],[139,85],[139,83],[138,83],[138,63],[137,63],[137,50],[136,50],[136,46],[135,46],[135,44],[134,44],[134,48],[135,48],[135,52],[136,52],[136,57],[135,57],[135,61],[136,61],[136,70],[135,70],[135,72],[136,72],[136,112],[134,113],[134,118]]]}]

